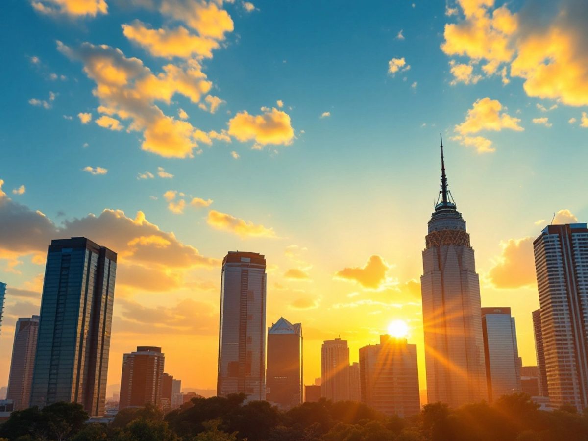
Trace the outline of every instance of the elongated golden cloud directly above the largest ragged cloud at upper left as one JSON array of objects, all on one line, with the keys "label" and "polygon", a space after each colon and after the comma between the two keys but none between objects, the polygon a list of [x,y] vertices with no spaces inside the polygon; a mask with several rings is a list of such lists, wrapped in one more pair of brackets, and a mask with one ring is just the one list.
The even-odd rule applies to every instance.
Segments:
[{"label": "elongated golden cloud directly above the largest ragged cloud at upper left", "polygon": [[212,50],[219,48],[213,38],[193,35],[183,26],[175,29],[150,29],[139,20],[122,25],[122,33],[142,46],[149,54],[162,58],[212,58]]}]

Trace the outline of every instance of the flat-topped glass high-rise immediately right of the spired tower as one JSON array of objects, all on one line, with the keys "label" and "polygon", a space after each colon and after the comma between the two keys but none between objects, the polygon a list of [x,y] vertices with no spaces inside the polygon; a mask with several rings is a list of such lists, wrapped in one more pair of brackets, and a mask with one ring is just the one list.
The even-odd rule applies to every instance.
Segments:
[{"label": "flat-topped glass high-rise immediately right of the spired tower", "polygon": [[519,349],[510,308],[482,308],[482,331],[489,401],[520,392]]}]

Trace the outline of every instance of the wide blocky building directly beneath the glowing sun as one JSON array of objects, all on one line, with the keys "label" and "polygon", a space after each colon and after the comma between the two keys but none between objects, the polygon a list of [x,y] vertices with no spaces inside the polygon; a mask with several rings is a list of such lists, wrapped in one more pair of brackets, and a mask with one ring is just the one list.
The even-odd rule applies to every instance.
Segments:
[{"label": "wide blocky building directly beneath the glowing sun", "polygon": [[359,349],[359,371],[363,403],[386,415],[420,412],[416,345],[382,335],[379,345]]}]

